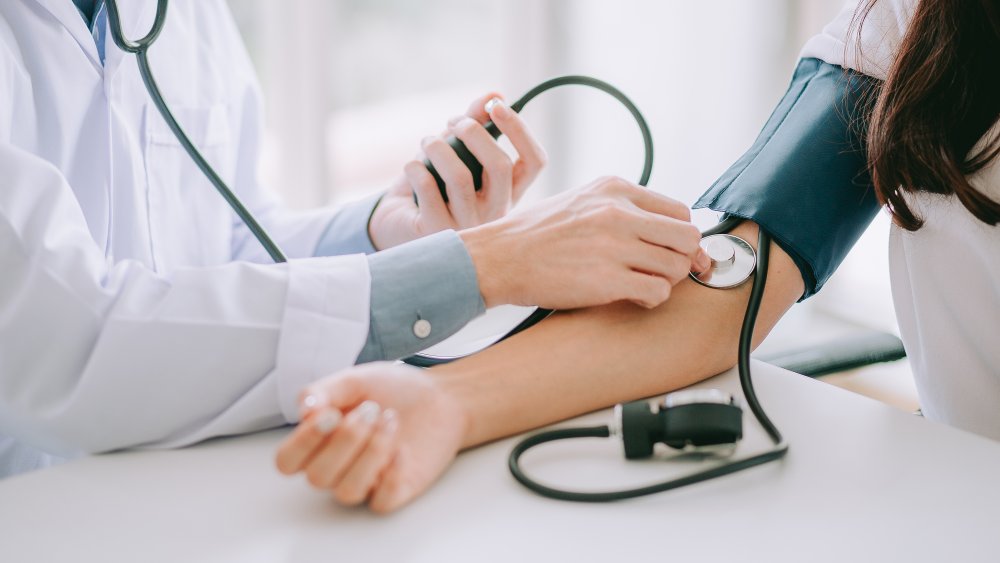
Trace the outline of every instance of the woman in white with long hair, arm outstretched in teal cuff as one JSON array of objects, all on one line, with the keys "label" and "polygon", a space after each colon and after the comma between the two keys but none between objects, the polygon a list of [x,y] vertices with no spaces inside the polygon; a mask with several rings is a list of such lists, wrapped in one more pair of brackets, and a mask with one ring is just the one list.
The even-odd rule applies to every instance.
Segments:
[{"label": "woman in white with long hair, arm outstretched in teal cuff", "polygon": [[[807,43],[761,136],[699,202],[751,219],[734,231],[745,240],[756,241],[761,225],[776,241],[755,342],[822,287],[888,204],[893,294],[923,410],[994,439],[998,59],[995,2],[849,7]],[[567,311],[429,371],[379,363],[335,374],[304,392],[303,422],[281,445],[278,467],[304,472],[341,503],[392,511],[463,448],[733,366],[748,294],[749,284],[714,290],[683,280],[652,311]]]}]

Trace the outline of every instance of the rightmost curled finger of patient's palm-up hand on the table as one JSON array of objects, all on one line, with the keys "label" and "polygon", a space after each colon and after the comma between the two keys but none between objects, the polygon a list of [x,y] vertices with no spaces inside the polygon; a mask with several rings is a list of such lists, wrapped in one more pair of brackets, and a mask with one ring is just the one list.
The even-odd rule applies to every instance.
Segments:
[{"label": "rightmost curled finger of patient's palm-up hand on the table", "polygon": [[398,428],[399,418],[396,411],[392,409],[383,411],[365,449],[341,479],[331,487],[337,502],[355,506],[368,499],[372,490],[378,485],[382,472],[395,457],[399,443]]}]

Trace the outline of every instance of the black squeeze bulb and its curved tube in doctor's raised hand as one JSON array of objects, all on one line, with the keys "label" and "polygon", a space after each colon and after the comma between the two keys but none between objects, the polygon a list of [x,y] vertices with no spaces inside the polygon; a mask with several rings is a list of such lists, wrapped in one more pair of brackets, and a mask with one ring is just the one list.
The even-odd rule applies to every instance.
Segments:
[{"label": "black squeeze bulb and its curved tube in doctor's raised hand", "polygon": [[[618,100],[632,117],[635,118],[636,124],[639,125],[639,132],[642,133],[642,143],[645,147],[646,157],[643,160],[642,174],[639,177],[639,185],[645,186],[649,182],[649,176],[653,172],[653,134],[649,131],[649,125],[646,123],[646,119],[642,116],[642,112],[636,107],[632,100],[628,98],[621,90],[615,88],[611,84],[604,82],[603,80],[598,80],[590,76],[580,76],[580,75],[568,75],[559,76],[556,78],[551,78],[542,82],[538,86],[535,86],[531,90],[528,90],[523,96],[517,99],[513,104],[510,105],[510,109],[515,112],[520,113],[524,106],[533,100],[536,96],[542,92],[546,92],[553,88],[558,88],[559,86],[587,86],[590,88],[596,88],[602,92],[609,94],[614,99]],[[486,131],[493,136],[494,139],[498,138],[501,133],[497,126],[492,122],[487,122],[483,127]],[[476,191],[479,191],[483,187],[483,165],[473,156],[472,151],[465,146],[465,143],[460,141],[454,135],[448,137],[448,145],[455,151],[458,158],[465,164],[469,172],[472,173],[472,183]],[[429,159],[424,159],[424,166],[427,171],[431,173],[434,177],[434,181],[437,183],[438,190],[441,192],[441,198],[444,199],[445,203],[448,202],[448,193],[445,189],[445,181],[441,178],[441,175],[431,164]],[[419,203],[419,202],[418,202]]]}]

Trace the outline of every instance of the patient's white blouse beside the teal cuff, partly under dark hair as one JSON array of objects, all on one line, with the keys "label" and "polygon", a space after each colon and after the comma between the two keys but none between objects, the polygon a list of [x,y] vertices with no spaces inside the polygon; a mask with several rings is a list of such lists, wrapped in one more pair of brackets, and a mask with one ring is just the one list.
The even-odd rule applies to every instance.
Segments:
[{"label": "patient's white blouse beside the teal cuff, partly under dark hair", "polygon": [[[884,79],[916,0],[880,0],[860,32],[848,2],[803,57]],[[987,135],[1000,134],[1000,127]],[[979,147],[977,147],[978,149]],[[970,178],[1000,200],[1000,163]],[[889,238],[893,301],[928,418],[1000,440],[1000,226],[973,216],[954,196],[908,197],[924,226],[895,225]]]}]

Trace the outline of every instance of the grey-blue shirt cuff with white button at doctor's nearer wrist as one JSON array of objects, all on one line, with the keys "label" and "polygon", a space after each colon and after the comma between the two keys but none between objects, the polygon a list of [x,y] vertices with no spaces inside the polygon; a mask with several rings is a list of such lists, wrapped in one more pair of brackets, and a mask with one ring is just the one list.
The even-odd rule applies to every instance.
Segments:
[{"label": "grey-blue shirt cuff with white button at doctor's nearer wrist", "polygon": [[429,348],[486,311],[465,244],[443,231],[368,257],[371,324],[357,363]]}]

